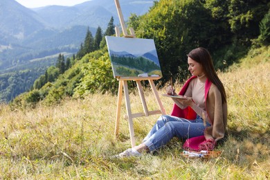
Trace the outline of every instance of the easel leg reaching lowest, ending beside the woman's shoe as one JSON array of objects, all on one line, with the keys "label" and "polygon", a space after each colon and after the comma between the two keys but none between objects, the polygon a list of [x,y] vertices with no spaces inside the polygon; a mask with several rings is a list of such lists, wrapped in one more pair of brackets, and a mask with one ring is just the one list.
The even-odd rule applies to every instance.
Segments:
[{"label": "easel leg reaching lowest, ending beside the woman's shoe", "polygon": [[125,93],[125,105],[127,108],[127,117],[129,121],[129,135],[130,135],[130,141],[132,143],[132,147],[135,146],[135,134],[134,134],[134,127],[133,127],[133,121],[132,121],[132,110],[130,107],[130,101],[129,101],[129,89],[127,87],[127,81],[124,81],[124,93]]}]

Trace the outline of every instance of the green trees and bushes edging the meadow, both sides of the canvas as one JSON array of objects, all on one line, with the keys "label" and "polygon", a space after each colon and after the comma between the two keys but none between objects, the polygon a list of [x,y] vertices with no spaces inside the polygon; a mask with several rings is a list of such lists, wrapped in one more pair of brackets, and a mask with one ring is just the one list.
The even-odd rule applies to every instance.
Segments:
[{"label": "green trees and bushes edging the meadow, both sides of the canvas", "polygon": [[[154,39],[162,82],[172,75],[174,80],[186,80],[186,54],[193,48],[208,48],[215,68],[224,70],[250,48],[269,46],[269,7],[266,0],[160,0],[145,15],[131,15],[127,24],[134,28],[136,37]],[[35,104],[39,100],[51,104],[66,96],[116,93],[118,82],[111,71],[106,35],[114,35],[113,17],[105,33],[98,28],[93,37],[87,30],[76,55],[65,61],[60,54],[57,64],[36,80],[32,91],[18,96],[11,104],[19,106],[24,101]]]}]

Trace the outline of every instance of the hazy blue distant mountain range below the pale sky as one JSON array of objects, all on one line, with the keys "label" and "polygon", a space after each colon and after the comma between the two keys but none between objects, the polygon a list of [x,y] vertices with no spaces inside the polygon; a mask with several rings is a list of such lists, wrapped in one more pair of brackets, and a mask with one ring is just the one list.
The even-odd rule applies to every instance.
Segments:
[{"label": "hazy blue distant mountain range below the pale sky", "polygon": [[[123,17],[143,15],[153,1],[121,0]],[[0,0],[0,74],[31,60],[57,53],[73,54],[84,41],[87,28],[95,35],[111,17],[118,26],[113,0],[91,0],[75,6],[26,8],[15,0]],[[42,61],[40,61],[42,63]],[[39,64],[42,66],[42,64]]]}]

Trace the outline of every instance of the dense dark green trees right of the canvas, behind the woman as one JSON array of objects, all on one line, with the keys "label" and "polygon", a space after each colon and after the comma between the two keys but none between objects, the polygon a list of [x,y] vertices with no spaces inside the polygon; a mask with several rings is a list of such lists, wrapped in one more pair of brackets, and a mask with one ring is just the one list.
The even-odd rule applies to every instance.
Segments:
[{"label": "dense dark green trees right of the canvas, behind the woman", "polygon": [[269,44],[269,6],[268,1],[159,1],[149,13],[132,15],[128,24],[137,37],[155,40],[168,80],[179,71],[175,64],[186,69],[186,54],[198,46],[208,48],[216,68],[224,69],[259,35],[263,36],[259,44]]}]

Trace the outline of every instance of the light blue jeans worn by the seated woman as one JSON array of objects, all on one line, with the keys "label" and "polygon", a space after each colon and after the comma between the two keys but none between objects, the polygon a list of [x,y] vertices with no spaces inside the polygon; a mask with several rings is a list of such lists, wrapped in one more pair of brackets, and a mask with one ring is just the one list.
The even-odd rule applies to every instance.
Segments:
[{"label": "light blue jeans worn by the seated woman", "polygon": [[[210,126],[210,123],[206,123],[206,126]],[[143,144],[150,151],[154,151],[168,143],[174,136],[185,139],[204,135],[205,128],[204,120],[200,116],[197,116],[195,120],[187,120],[175,116],[162,115],[143,139]]]}]

